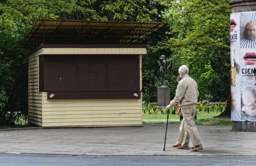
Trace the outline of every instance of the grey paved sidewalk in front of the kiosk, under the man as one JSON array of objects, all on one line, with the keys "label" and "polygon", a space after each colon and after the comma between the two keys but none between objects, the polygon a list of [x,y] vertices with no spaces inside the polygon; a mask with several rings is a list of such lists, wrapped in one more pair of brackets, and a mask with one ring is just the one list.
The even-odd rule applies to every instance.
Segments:
[{"label": "grey paved sidewalk in front of the kiosk, under the man", "polygon": [[42,128],[0,131],[0,152],[74,155],[256,155],[255,132],[232,132],[230,126],[200,126],[204,150],[178,150],[179,125],[143,127]]}]

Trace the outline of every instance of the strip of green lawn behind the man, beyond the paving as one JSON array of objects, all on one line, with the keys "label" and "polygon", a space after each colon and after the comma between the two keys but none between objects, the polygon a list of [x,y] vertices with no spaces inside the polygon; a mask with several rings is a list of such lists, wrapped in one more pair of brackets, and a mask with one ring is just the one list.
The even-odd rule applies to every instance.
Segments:
[{"label": "strip of green lawn behind the man, beyond the paving", "polygon": [[[197,119],[209,119],[220,115],[220,113],[198,113]],[[167,115],[143,114],[143,119],[167,119]],[[169,119],[180,119],[179,115],[169,115]]]}]

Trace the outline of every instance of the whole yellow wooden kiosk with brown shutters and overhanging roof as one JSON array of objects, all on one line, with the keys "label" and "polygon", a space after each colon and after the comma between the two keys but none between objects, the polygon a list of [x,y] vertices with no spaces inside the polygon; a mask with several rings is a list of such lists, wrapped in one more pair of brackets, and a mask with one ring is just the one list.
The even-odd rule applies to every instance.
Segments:
[{"label": "whole yellow wooden kiosk with brown shutters and overhanging roof", "polygon": [[141,38],[162,23],[36,20],[29,55],[29,122],[42,127],[141,126]]}]

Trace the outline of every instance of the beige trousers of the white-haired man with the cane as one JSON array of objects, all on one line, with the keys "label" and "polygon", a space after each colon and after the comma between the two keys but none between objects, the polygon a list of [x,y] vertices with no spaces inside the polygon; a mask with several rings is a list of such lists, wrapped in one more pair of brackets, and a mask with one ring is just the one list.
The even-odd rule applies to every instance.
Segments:
[{"label": "beige trousers of the white-haired man with the cane", "polygon": [[196,108],[182,109],[182,122],[180,123],[180,134],[177,143],[188,145],[191,138],[193,146],[201,144],[200,137],[194,123]]}]

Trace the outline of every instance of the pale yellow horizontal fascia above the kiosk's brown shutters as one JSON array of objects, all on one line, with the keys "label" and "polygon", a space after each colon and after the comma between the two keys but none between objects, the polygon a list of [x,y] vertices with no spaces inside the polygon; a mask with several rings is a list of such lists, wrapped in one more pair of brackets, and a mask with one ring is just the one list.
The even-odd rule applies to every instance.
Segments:
[{"label": "pale yellow horizontal fascia above the kiosk's brown shutters", "polygon": [[117,55],[141,55],[146,54],[146,48],[44,48],[44,54],[117,54]]}]

